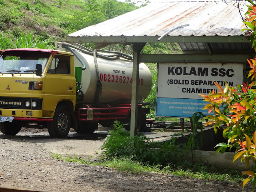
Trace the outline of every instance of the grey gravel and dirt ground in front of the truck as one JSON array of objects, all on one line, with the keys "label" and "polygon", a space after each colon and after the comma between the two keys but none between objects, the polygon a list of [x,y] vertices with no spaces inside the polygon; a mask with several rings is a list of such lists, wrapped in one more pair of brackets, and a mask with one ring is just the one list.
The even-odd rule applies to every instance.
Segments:
[{"label": "grey gravel and dirt ground in front of the truck", "polygon": [[154,172],[129,174],[104,166],[64,162],[51,156],[57,148],[62,154],[81,151],[77,153],[79,156],[96,158],[100,155],[98,147],[102,138],[102,133],[88,136],[70,133],[68,138],[53,139],[46,130],[23,130],[17,136],[0,133],[0,187],[49,192],[249,192],[252,189],[251,185],[243,189],[242,183]]}]

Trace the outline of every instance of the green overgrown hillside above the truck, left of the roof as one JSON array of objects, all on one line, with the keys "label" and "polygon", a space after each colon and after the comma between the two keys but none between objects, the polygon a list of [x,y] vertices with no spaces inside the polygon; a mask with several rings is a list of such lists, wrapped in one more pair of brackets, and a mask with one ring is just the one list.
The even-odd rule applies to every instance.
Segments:
[{"label": "green overgrown hillside above the truck, left of the roof", "polygon": [[51,47],[72,32],[138,8],[116,0],[0,0],[0,7],[1,49],[16,48],[29,34],[37,46]]}]

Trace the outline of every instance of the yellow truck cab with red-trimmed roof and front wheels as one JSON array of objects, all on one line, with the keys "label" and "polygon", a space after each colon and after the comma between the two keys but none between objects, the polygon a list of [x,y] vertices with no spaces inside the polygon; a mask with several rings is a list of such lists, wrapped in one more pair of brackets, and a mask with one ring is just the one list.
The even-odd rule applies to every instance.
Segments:
[{"label": "yellow truck cab with red-trimmed roof and front wheels", "polygon": [[0,82],[0,130],[4,134],[15,135],[27,124],[47,127],[52,137],[66,137],[76,105],[72,53],[2,50]]}]

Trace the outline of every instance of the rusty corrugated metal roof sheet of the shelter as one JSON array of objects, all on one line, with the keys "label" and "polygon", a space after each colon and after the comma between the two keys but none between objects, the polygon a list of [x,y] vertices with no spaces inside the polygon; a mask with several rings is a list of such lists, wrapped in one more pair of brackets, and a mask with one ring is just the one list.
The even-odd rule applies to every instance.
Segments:
[{"label": "rusty corrugated metal roof sheet of the shelter", "polygon": [[[240,1],[240,12],[247,10]],[[144,6],[105,22],[69,34],[88,36],[161,36],[168,29],[189,24],[170,32],[170,36],[240,36],[245,28],[236,1],[162,2]]]}]

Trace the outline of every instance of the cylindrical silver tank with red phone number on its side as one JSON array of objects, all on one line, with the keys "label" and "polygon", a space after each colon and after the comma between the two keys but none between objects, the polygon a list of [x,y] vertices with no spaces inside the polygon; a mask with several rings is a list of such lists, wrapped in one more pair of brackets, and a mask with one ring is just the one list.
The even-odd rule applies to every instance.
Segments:
[{"label": "cylindrical silver tank with red phone number on its side", "polygon": [[[85,104],[94,104],[96,98],[97,74],[94,57],[74,49],[82,59],[86,69],[82,70],[82,92]],[[106,60],[97,58],[102,93],[99,103],[130,101],[132,96],[132,61],[126,59]],[[82,67],[81,62],[74,56],[74,65]],[[152,75],[144,63],[139,69],[138,102],[142,102],[149,94],[152,86]]]}]

